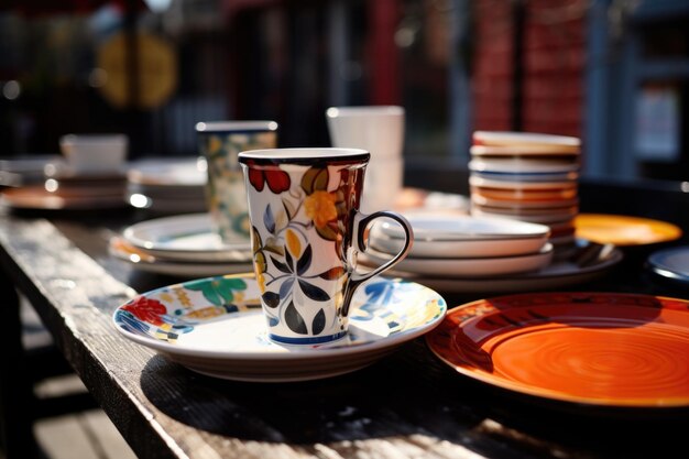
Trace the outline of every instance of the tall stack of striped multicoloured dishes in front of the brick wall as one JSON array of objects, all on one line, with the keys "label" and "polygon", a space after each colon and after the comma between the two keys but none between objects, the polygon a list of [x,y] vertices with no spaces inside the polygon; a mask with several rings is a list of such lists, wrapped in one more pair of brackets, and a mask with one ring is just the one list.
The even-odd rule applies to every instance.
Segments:
[{"label": "tall stack of striped multicoloured dishes in front of the brick wall", "polygon": [[474,132],[471,214],[547,225],[556,251],[572,248],[580,150],[579,139],[572,136]]}]

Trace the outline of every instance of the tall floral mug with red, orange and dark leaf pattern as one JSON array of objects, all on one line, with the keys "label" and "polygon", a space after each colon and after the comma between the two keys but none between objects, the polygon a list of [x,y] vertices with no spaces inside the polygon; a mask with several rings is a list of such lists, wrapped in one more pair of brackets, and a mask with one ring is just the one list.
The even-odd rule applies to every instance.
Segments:
[{"label": "tall floral mug with red, orange and dark leaf pattern", "polygon": [[[347,335],[357,287],[404,259],[412,226],[401,215],[359,211],[370,154],[359,149],[270,149],[241,152],[253,266],[269,337],[316,345]],[[400,252],[384,264],[357,271],[367,229],[379,218],[405,233]]]}]

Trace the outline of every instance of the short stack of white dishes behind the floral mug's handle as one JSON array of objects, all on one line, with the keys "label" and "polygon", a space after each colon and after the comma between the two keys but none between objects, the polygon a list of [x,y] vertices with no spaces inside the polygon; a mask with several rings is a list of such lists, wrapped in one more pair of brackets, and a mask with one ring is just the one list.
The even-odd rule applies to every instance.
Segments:
[{"label": "short stack of white dishes behind the floral mug's handle", "polygon": [[[394,266],[401,274],[446,277],[490,277],[534,272],[547,266],[553,244],[547,226],[502,218],[469,216],[407,216],[414,229],[414,244],[406,259]],[[370,248],[362,254],[364,265],[390,260],[404,242],[404,232],[394,222],[371,229]]]}]

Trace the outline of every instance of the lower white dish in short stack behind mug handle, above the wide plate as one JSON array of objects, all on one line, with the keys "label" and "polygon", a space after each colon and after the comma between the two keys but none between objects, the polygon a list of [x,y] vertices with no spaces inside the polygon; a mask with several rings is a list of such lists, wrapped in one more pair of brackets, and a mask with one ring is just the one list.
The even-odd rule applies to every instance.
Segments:
[{"label": "lower white dish in short stack behind mug handle, above the wide plate", "polygon": [[[365,266],[378,266],[390,258],[387,253],[368,249],[360,254],[360,262]],[[473,259],[406,258],[395,264],[395,271],[425,275],[485,277],[537,271],[550,263],[550,260],[553,260],[553,244],[546,243],[539,252],[524,255]]]}]

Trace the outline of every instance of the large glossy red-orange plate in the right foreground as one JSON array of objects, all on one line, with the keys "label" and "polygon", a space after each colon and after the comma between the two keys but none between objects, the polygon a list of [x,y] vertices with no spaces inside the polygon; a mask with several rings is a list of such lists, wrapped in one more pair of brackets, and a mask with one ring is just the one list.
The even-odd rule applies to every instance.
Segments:
[{"label": "large glossy red-orange plate in the right foreground", "polygon": [[689,406],[689,302],[542,293],[456,307],[426,340],[458,372],[506,390],[615,407]]}]

